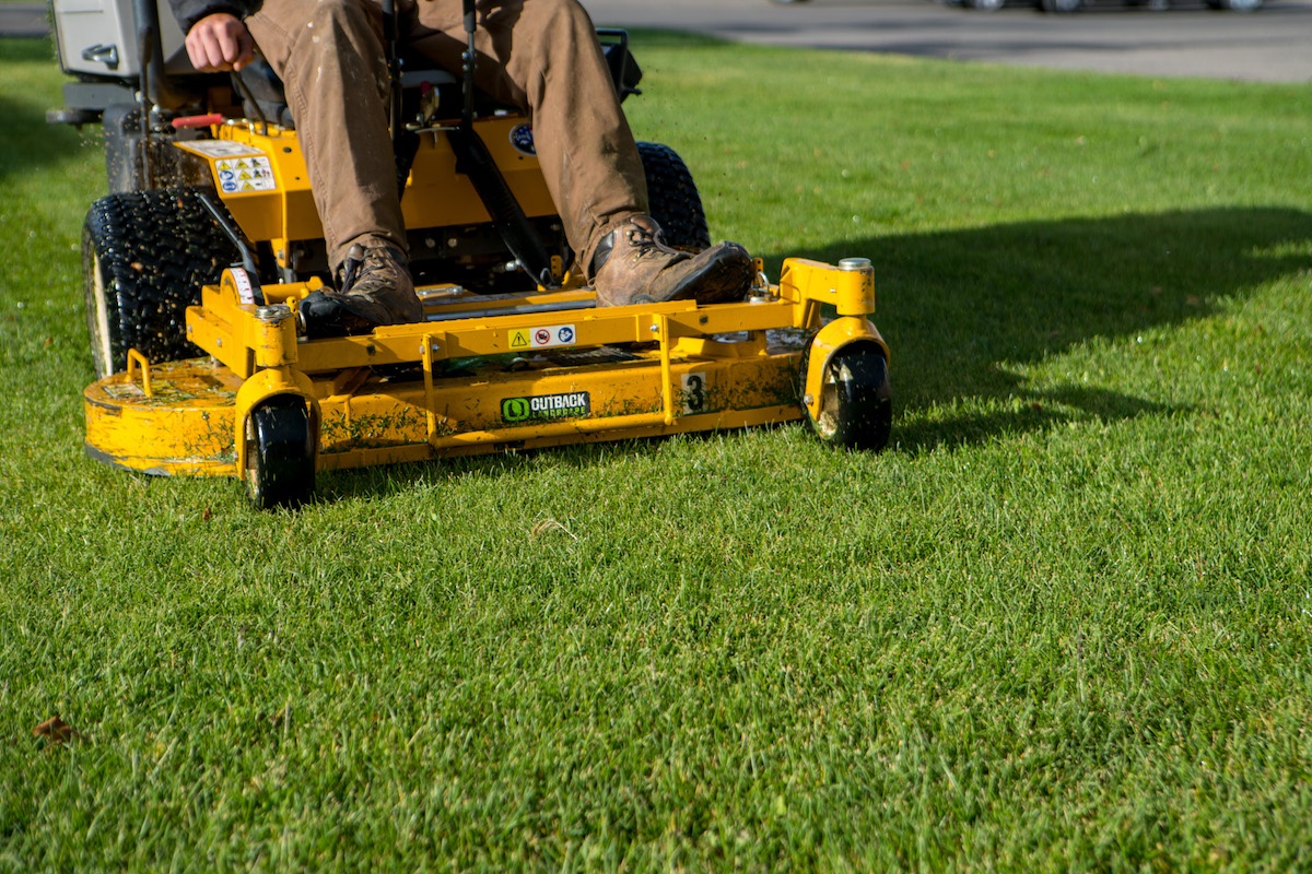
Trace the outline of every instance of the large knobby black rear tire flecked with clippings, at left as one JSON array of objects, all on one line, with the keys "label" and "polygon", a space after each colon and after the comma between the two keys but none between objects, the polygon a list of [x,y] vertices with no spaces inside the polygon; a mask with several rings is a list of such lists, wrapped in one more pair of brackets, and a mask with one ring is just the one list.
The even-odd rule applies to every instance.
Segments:
[{"label": "large knobby black rear tire flecked with clippings, at left", "polygon": [[186,341],[186,308],[237,258],[201,206],[206,190],[127,191],[92,204],[83,290],[97,377],[127,367],[129,349],[151,363],[199,354]]}]

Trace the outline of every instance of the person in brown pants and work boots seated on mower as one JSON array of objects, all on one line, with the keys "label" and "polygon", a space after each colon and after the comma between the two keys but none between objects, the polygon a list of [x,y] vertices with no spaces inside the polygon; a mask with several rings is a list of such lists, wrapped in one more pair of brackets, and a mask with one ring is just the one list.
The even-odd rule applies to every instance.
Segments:
[{"label": "person in brown pants and work boots seated on mower", "polygon": [[[197,69],[240,69],[258,46],[283,81],[341,288],[302,301],[306,333],[422,321],[396,191],[379,1],[171,4]],[[741,297],[754,278],[743,246],[677,252],[647,215],[638,145],[577,0],[479,0],[478,10],[476,85],[529,113],[543,177],[597,304]],[[398,0],[396,18],[409,50],[462,69],[462,0]]]}]

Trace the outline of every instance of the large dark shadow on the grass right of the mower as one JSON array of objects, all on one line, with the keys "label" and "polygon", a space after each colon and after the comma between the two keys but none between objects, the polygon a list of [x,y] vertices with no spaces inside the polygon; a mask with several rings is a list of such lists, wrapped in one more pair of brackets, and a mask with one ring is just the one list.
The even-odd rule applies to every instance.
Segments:
[{"label": "large dark shadow on the grass right of the mower", "polygon": [[[1233,207],[853,238],[794,254],[874,262],[897,419],[914,421],[895,419],[893,439],[920,452],[1051,427],[1067,418],[1060,408],[1107,421],[1168,411],[1096,385],[1035,392],[1014,370],[1206,317],[1224,299],[1312,269],[1308,228],[1299,210]],[[1012,410],[917,415],[980,398]]]}]

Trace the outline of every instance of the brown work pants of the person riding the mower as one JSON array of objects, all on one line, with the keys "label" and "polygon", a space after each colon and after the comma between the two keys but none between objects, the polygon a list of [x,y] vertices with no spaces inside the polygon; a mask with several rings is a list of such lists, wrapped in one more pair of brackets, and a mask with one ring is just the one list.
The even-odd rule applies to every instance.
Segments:
[{"label": "brown work pants of the person riding the mower", "polygon": [[[529,111],[547,189],[575,252],[647,212],[638,147],[577,0],[478,0],[476,84]],[[396,0],[401,45],[459,73],[461,0]],[[405,249],[387,127],[379,0],[265,0],[247,20],[297,121],[329,262],[373,235]]]}]

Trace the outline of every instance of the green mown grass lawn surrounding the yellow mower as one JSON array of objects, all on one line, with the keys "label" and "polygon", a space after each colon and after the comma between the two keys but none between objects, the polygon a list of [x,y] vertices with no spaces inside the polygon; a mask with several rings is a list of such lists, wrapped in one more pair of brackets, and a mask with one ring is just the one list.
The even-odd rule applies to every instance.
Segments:
[{"label": "green mown grass lawn surrounding the yellow mower", "polygon": [[890,451],[100,466],[0,41],[0,870],[1312,866],[1312,90],[634,45],[719,236],[875,262]]}]

